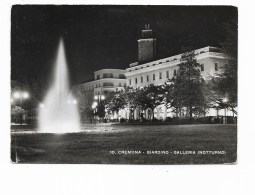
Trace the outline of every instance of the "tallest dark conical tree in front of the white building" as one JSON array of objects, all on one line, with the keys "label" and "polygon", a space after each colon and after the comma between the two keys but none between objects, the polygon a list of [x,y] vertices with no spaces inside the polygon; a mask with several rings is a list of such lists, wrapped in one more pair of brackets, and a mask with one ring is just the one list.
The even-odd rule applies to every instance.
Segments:
[{"label": "tallest dark conical tree in front of the white building", "polygon": [[205,81],[200,75],[201,65],[195,57],[194,51],[184,52],[177,74],[170,80],[173,84],[171,105],[179,110],[184,107],[189,118],[192,118],[193,114],[205,114],[206,109]]}]

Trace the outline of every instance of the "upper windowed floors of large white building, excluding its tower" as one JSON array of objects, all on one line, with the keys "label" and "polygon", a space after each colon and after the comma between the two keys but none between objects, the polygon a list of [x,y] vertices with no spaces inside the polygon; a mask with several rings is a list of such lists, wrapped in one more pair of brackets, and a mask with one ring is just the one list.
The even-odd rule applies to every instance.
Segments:
[{"label": "upper windowed floors of large white building, excluding its tower", "polygon": [[[197,62],[201,64],[201,76],[205,79],[215,76],[227,66],[226,57],[218,48],[208,46],[195,50],[195,53],[197,54]],[[137,63],[135,66],[135,63],[130,64],[125,73],[127,86],[138,88],[150,84],[164,84],[176,74],[178,65],[181,63],[181,55],[144,64]]]}]

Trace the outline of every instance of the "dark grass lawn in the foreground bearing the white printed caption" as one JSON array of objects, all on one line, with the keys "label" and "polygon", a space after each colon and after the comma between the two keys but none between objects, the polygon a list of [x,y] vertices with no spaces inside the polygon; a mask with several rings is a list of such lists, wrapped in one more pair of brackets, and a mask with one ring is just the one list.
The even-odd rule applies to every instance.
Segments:
[{"label": "dark grass lawn in the foreground bearing the white printed caption", "polygon": [[12,133],[11,138],[11,159],[19,163],[219,164],[236,162],[237,126],[112,125],[81,133]]}]

